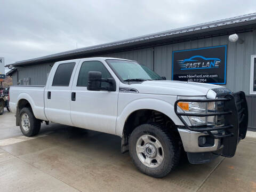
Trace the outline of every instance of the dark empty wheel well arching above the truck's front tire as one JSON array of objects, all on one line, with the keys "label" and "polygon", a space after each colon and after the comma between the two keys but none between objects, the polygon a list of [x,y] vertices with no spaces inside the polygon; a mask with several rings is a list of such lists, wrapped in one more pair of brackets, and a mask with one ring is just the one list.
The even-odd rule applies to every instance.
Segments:
[{"label": "dark empty wheel well arching above the truck's front tire", "polygon": [[123,130],[122,145],[128,145],[129,136],[135,127],[141,124],[150,123],[161,124],[167,132],[175,134],[175,136],[177,135],[177,139],[180,139],[178,129],[170,117],[157,110],[140,109],[131,113],[126,119]]}]

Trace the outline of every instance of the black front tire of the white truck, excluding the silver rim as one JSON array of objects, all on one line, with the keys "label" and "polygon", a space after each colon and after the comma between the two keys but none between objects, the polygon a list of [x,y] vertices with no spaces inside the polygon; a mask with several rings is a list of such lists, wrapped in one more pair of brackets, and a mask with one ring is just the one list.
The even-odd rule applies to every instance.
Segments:
[{"label": "black front tire of the white truck, excluding the silver rim", "polygon": [[[158,141],[164,150],[163,162],[158,167],[148,167],[144,165],[136,152],[137,140],[145,134],[152,135]],[[142,172],[151,177],[162,178],[172,171],[180,159],[180,147],[174,135],[164,129],[159,124],[142,124],[136,127],[129,137],[129,153],[135,166]]]}]

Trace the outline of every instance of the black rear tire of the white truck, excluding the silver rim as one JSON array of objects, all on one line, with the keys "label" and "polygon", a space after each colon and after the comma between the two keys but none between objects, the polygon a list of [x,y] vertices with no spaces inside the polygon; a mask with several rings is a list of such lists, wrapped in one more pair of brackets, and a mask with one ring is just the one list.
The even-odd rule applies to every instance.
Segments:
[{"label": "black rear tire of the white truck, excluding the silver rim", "polygon": [[[29,117],[30,127],[29,127],[28,131],[23,129],[22,122],[21,122],[22,121],[21,117],[25,113]],[[35,136],[39,133],[40,128],[41,128],[41,121],[39,119],[35,118],[31,108],[25,107],[25,108],[20,110],[20,130],[23,133],[23,135],[25,135],[27,137],[33,137],[33,136]]]}]

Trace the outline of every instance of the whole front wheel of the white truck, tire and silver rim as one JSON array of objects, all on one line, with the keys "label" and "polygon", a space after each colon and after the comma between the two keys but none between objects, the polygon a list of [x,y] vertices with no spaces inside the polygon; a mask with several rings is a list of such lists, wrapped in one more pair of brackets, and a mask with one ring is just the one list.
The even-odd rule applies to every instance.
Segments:
[{"label": "whole front wheel of the white truck, tire and silver rim", "polygon": [[167,175],[180,158],[178,142],[158,124],[136,127],[129,138],[129,151],[135,166],[156,178]]}]

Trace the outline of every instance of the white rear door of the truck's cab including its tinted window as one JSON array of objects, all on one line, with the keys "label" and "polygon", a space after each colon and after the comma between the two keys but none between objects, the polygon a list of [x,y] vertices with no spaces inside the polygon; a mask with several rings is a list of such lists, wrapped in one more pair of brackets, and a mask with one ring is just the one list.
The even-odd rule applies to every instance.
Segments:
[{"label": "white rear door of the truck's cab including its tinted window", "polygon": [[73,125],[70,117],[71,86],[78,61],[57,62],[53,66],[55,74],[49,77],[50,83],[45,90],[45,115],[51,122]]}]

